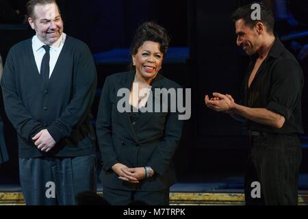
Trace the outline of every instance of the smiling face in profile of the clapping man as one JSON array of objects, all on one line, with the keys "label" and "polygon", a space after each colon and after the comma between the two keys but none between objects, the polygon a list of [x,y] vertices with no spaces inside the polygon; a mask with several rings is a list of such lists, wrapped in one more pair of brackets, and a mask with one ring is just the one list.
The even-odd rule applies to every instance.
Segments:
[{"label": "smiling face in profile of the clapping man", "polygon": [[235,32],[238,35],[236,44],[242,47],[248,55],[255,54],[259,47],[259,35],[257,29],[248,27],[243,19],[235,22]]}]

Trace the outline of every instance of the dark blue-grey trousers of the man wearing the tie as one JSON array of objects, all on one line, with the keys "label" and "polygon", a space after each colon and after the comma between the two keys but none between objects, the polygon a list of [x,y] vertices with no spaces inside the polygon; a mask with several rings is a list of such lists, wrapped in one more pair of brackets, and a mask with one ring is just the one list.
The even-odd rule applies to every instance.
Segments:
[{"label": "dark blue-grey trousers of the man wearing the tie", "polygon": [[25,203],[75,205],[75,196],[79,192],[97,192],[96,169],[95,155],[19,158],[19,177]]}]

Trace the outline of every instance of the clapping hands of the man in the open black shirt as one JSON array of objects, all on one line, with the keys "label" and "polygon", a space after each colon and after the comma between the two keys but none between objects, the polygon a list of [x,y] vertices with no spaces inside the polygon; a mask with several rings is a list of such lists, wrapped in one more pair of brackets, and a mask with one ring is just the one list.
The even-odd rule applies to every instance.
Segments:
[{"label": "clapping hands of the man in the open black shirt", "polygon": [[216,112],[227,112],[230,113],[234,108],[234,100],[231,95],[220,94],[217,92],[213,93],[213,98],[209,99],[208,95],[205,95],[205,104],[211,110],[215,110]]}]

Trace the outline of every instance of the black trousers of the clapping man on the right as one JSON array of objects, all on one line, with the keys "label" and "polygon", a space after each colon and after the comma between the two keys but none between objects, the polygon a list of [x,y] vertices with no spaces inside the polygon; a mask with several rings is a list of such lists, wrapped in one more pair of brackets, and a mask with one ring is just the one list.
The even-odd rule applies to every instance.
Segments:
[{"label": "black trousers of the clapping man on the right", "polygon": [[[245,172],[246,205],[297,205],[298,171],[302,149],[297,135],[251,136],[251,154]],[[253,198],[261,185],[261,198]]]}]

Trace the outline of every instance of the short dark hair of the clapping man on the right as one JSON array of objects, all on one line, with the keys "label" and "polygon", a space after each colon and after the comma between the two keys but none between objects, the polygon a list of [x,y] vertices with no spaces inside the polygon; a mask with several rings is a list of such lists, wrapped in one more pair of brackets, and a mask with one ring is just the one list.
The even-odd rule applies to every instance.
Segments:
[{"label": "short dark hair of the clapping man on the right", "polygon": [[[251,13],[253,12],[253,9],[251,9],[251,5],[253,5],[254,3],[260,5],[260,20],[253,20],[251,18]],[[264,3],[261,2],[249,3],[248,5],[238,8],[238,10],[235,10],[235,12],[233,12],[231,18],[233,22],[243,19],[245,21],[245,24],[251,28],[255,27],[256,23],[261,22],[264,24],[264,26],[266,26],[266,30],[269,34],[272,34],[274,31],[274,15],[272,14],[272,10],[270,10],[270,8],[268,8],[266,5],[264,5]]]}]

